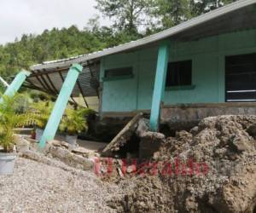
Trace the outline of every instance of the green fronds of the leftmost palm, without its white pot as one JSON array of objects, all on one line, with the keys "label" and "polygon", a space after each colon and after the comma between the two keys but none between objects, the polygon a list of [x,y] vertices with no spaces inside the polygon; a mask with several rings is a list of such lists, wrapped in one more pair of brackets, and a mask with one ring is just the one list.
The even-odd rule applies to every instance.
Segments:
[{"label": "green fronds of the leftmost palm, without its white pot", "polygon": [[14,129],[22,127],[31,120],[29,113],[20,112],[20,100],[24,95],[16,94],[13,97],[2,96],[0,103],[0,145],[4,153],[11,153],[14,150]]}]

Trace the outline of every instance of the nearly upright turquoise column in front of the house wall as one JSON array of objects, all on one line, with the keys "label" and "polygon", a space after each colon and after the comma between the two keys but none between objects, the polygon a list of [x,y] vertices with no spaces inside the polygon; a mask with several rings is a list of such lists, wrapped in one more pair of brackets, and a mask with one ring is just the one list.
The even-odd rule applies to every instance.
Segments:
[{"label": "nearly upright turquoise column in front of the house wall", "polygon": [[166,88],[166,72],[168,66],[168,58],[169,58],[169,44],[161,43],[158,59],[157,59],[157,67],[154,79],[154,93],[153,93],[153,101],[151,106],[151,114],[150,114],[150,130],[158,131],[159,130],[159,121],[160,121],[160,104],[163,100],[165,88]]}]

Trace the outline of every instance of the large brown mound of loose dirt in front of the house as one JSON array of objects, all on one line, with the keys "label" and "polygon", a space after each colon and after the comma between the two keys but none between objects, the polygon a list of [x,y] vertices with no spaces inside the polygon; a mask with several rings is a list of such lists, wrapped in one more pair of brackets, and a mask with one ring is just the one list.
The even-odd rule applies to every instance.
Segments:
[{"label": "large brown mound of loose dirt in front of the house", "polygon": [[119,212],[255,213],[255,139],[256,116],[205,118],[164,139],[150,163],[157,172],[120,181],[126,193],[109,205]]}]

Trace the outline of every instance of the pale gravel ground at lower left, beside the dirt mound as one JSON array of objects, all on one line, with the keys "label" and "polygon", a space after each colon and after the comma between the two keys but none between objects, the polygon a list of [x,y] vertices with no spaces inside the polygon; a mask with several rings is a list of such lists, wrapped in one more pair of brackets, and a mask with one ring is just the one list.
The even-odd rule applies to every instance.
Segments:
[{"label": "pale gravel ground at lower left, beside the dirt mound", "polygon": [[0,212],[114,212],[106,201],[117,191],[89,171],[17,158],[14,176],[0,176]]}]

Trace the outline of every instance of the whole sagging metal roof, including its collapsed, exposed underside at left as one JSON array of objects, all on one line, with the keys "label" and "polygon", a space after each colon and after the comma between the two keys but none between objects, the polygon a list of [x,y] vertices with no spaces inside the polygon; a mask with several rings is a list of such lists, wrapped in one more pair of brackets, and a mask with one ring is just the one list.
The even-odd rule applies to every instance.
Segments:
[{"label": "whole sagging metal roof, including its collapsed, exposed underside at left", "polygon": [[99,61],[103,56],[157,45],[166,38],[188,41],[248,28],[256,29],[256,0],[241,0],[231,3],[166,31],[114,48],[103,49],[89,55],[79,55],[73,58],[52,60],[34,65],[31,67],[32,75],[26,80],[26,86],[57,95],[61,89],[62,81],[67,75],[68,68],[73,63],[79,63],[84,66],[84,70],[79,75],[78,83],[73,89],[73,96],[79,96],[79,94],[84,97],[98,96]]}]

